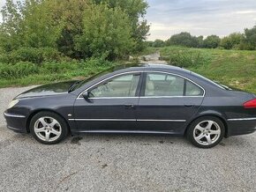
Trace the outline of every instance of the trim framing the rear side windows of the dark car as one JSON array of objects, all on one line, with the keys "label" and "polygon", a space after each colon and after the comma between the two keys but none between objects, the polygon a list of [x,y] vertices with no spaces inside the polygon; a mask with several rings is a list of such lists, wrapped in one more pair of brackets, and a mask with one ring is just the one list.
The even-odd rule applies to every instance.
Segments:
[{"label": "trim framing the rear side windows of the dark car", "polygon": [[[143,76],[143,85],[142,85],[142,91],[140,92],[139,98],[201,98],[201,97],[205,97],[206,91],[205,89],[198,85],[197,83],[195,83],[194,81],[192,81],[190,78],[185,78],[182,75],[178,75],[175,73],[171,73],[171,72],[166,72],[166,71],[155,71],[155,70],[145,70],[143,71],[143,73],[145,74]],[[193,85],[196,85],[198,87],[200,87],[200,89],[203,91],[202,95],[191,95],[191,96],[186,96],[186,95],[177,95],[177,96],[145,96],[145,89],[146,89],[146,83],[147,83],[147,73],[161,73],[161,74],[168,74],[168,75],[172,75],[172,76],[176,76],[178,78],[184,78],[184,84],[186,85],[186,81],[190,81]],[[186,86],[184,86],[185,89]],[[185,91],[184,91],[185,92]],[[142,94],[141,94],[142,93]]]}]

